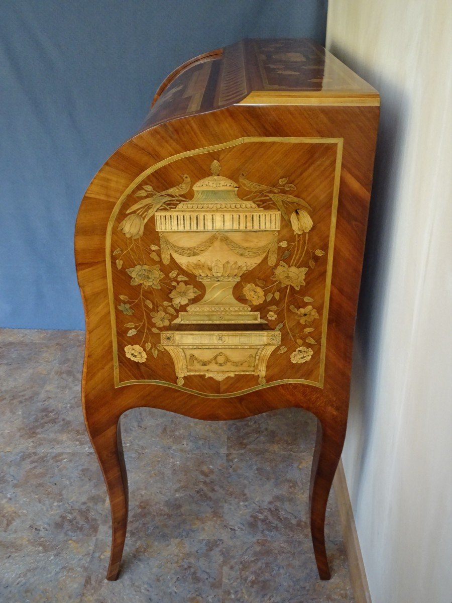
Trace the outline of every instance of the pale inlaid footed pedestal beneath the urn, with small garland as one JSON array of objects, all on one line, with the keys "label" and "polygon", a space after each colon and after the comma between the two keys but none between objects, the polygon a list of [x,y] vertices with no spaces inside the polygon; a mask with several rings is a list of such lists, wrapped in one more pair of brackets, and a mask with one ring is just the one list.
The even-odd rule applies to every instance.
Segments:
[{"label": "pale inlaid footed pedestal beneath the urn, with small garland", "polygon": [[281,343],[281,333],[271,330],[174,330],[162,333],[162,346],[171,354],[177,385],[184,377],[203,374],[222,381],[239,374],[259,376],[265,384],[267,360]]}]

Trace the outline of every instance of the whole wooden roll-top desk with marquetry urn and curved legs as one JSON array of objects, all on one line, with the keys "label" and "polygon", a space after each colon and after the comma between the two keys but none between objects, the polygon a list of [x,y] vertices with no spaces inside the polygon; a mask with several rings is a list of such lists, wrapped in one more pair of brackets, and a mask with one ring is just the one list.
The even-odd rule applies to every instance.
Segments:
[{"label": "whole wooden roll-top desk with marquetry urn and curved legs", "polygon": [[75,233],[84,418],[118,578],[128,486],[121,414],[318,419],[310,526],[347,426],[378,93],[311,40],[242,40],[175,69],[96,174]]}]

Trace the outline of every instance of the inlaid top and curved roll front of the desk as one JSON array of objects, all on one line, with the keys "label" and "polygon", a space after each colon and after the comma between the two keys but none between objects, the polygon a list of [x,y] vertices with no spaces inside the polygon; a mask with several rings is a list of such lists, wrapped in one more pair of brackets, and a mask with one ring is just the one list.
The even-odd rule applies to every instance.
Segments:
[{"label": "inlaid top and curved roll front of the desk", "polygon": [[246,39],[175,69],[145,127],[233,104],[378,105],[379,96],[313,40]]}]

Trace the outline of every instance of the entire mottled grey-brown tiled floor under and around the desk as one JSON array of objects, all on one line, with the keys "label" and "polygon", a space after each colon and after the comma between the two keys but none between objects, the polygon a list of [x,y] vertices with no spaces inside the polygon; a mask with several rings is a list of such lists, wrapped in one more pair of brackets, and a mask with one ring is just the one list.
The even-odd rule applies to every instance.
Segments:
[{"label": "entire mottled grey-brown tiled floor under and around the desk", "polygon": [[80,407],[83,341],[0,330],[2,603],[353,601],[334,495],[333,578],[318,579],[315,420],[289,409],[225,423],[125,414],[130,522],[121,576],[105,581],[110,511]]}]

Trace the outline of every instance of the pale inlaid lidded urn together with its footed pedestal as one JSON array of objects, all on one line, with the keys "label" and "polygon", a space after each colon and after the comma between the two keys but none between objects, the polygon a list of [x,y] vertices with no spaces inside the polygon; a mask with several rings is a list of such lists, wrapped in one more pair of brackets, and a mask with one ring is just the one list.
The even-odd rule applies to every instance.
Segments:
[{"label": "pale inlaid lidded urn together with its footed pedestal", "polygon": [[220,175],[218,161],[210,169],[211,175],[193,185],[192,200],[155,212],[163,264],[172,256],[206,289],[201,301],[161,333],[161,344],[174,361],[178,385],[190,374],[219,381],[254,374],[263,385],[281,333],[238,301],[233,289],[265,257],[269,266],[275,264],[281,213],[240,199],[239,186]]}]

